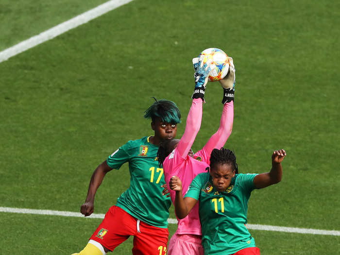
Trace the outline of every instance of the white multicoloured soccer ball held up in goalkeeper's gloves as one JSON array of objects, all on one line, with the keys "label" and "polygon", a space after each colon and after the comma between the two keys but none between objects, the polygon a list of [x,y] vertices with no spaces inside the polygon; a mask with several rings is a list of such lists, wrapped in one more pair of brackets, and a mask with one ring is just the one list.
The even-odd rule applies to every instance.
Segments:
[{"label": "white multicoloured soccer ball held up in goalkeeper's gloves", "polygon": [[224,51],[217,48],[209,48],[202,51],[198,57],[200,58],[201,56],[204,56],[204,64],[208,59],[211,59],[211,63],[216,65],[216,68],[214,68],[209,75],[209,81],[220,81],[227,75],[229,70],[229,58]]}]

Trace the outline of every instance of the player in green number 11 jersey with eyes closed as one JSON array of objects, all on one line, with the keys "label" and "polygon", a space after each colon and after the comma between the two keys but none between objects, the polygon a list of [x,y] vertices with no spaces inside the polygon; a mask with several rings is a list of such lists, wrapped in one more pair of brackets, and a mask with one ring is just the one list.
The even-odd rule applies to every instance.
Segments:
[{"label": "player in green number 11 jersey with eyes closed", "polygon": [[176,191],[175,212],[185,218],[199,202],[204,255],[259,255],[255,240],[246,228],[248,200],[251,192],[276,184],[282,178],[281,162],[285,150],[272,153],[272,169],[260,174],[238,173],[235,154],[221,148],[210,156],[210,170],[198,174],[186,195],[182,182],[172,176],[169,187]]}]

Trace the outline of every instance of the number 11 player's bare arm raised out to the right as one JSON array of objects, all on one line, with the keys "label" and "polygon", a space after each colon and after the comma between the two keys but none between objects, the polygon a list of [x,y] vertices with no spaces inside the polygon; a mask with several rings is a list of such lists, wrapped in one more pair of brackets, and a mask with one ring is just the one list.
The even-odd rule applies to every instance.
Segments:
[{"label": "number 11 player's bare arm raised out to the right", "polygon": [[279,183],[282,179],[281,162],[286,156],[284,149],[272,153],[272,169],[270,172],[257,174],[254,178],[255,188],[264,188]]}]

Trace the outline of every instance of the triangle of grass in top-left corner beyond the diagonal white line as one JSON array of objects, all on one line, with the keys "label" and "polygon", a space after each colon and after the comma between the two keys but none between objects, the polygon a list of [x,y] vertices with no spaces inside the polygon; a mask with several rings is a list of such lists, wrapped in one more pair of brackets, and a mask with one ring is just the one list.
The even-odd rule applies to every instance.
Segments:
[{"label": "triangle of grass in top-left corner beyond the diagonal white line", "polygon": [[1,0],[0,51],[104,2],[106,0]]}]

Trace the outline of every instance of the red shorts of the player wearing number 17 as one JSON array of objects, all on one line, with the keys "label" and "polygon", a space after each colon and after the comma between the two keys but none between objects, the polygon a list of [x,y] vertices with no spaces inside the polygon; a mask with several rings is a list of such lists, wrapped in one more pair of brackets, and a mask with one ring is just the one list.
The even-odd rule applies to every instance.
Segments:
[{"label": "red shorts of the player wearing number 17", "polygon": [[[139,227],[139,231],[137,230]],[[129,236],[134,236],[134,255],[166,255],[169,231],[139,221],[114,205],[90,239],[113,251]]]}]

